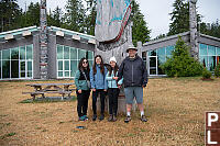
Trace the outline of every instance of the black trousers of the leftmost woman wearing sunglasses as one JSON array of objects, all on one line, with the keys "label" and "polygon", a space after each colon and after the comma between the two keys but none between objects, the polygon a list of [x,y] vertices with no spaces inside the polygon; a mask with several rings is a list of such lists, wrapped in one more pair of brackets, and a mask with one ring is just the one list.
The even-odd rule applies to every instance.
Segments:
[{"label": "black trousers of the leftmost woman wearing sunglasses", "polygon": [[88,100],[90,96],[90,90],[81,90],[81,93],[76,90],[77,93],[77,112],[78,116],[87,115]]}]

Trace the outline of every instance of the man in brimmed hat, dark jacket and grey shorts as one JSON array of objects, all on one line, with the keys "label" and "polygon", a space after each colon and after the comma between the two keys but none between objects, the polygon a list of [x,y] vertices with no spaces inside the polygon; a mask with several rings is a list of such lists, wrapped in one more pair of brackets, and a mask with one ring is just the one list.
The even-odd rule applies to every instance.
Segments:
[{"label": "man in brimmed hat, dark jacket and grey shorts", "polygon": [[127,100],[125,123],[131,121],[131,109],[134,97],[141,112],[141,121],[147,121],[144,115],[143,105],[143,88],[146,87],[148,80],[147,71],[144,61],[136,52],[138,49],[133,45],[128,47],[127,53],[129,53],[129,56],[121,63],[118,74],[119,80],[123,77],[124,83],[124,94]]}]

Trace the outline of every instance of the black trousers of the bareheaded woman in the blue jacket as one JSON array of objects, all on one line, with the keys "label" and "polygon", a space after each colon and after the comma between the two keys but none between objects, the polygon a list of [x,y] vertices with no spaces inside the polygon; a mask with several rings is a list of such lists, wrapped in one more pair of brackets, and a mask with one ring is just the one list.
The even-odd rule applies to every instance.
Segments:
[{"label": "black trousers of the bareheaded woman in the blue jacket", "polygon": [[103,89],[96,89],[96,91],[92,91],[92,110],[94,114],[97,114],[97,97],[100,93],[100,101],[101,101],[101,114],[105,112],[105,98],[106,92]]}]

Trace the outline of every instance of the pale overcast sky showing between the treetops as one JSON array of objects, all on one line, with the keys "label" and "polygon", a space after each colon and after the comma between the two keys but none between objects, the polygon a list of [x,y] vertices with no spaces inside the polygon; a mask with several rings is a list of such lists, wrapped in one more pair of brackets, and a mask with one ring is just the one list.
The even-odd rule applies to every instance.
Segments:
[{"label": "pale overcast sky showing between the treetops", "polygon": [[[18,0],[19,5],[25,10],[30,2],[41,2],[41,0]],[[67,0],[47,0],[47,9],[54,10],[57,5],[65,11]],[[151,38],[168,32],[170,23],[169,13],[173,11],[175,0],[136,0],[140,4],[141,12],[151,30]],[[198,0],[197,12],[202,15],[201,21],[213,23],[220,20],[220,0]]]}]

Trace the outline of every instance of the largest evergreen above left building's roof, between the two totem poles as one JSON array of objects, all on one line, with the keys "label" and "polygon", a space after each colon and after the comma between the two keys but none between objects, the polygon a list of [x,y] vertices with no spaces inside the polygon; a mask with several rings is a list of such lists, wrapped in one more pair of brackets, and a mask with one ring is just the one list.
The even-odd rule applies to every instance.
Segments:
[{"label": "largest evergreen above left building's roof, between the two totem poles", "polygon": [[81,0],[68,0],[66,4],[67,13],[64,14],[62,27],[85,33],[86,32],[86,10]]}]

